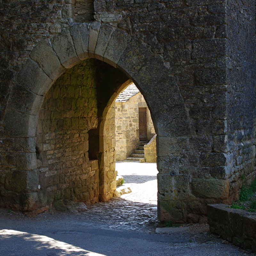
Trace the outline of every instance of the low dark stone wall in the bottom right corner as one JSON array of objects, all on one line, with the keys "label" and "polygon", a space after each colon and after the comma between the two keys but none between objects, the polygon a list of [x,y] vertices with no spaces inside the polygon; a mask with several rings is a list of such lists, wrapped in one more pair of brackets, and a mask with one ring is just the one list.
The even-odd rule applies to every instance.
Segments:
[{"label": "low dark stone wall in the bottom right corner", "polygon": [[213,233],[256,252],[256,213],[229,208],[226,204],[209,204],[207,215]]}]

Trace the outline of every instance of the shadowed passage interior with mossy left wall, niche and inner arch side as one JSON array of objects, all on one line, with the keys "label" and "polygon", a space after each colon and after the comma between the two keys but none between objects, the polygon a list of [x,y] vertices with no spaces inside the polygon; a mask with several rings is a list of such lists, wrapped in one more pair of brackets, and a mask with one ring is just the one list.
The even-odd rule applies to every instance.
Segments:
[{"label": "shadowed passage interior with mossy left wall, niche and inner arch side", "polygon": [[67,69],[47,92],[37,126],[40,206],[112,197],[115,117],[110,98],[127,80],[118,69],[88,59]]}]

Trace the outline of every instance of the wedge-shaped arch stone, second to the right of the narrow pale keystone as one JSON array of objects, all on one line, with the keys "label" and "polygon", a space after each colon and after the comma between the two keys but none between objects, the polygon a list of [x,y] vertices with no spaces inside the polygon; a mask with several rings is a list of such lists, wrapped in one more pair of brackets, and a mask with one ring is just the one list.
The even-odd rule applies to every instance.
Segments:
[{"label": "wedge-shaped arch stone, second to the right of the narrow pale keystone", "polygon": [[123,54],[127,44],[130,43],[130,40],[131,36],[124,30],[114,30],[109,39],[103,60],[116,68],[116,63]]}]

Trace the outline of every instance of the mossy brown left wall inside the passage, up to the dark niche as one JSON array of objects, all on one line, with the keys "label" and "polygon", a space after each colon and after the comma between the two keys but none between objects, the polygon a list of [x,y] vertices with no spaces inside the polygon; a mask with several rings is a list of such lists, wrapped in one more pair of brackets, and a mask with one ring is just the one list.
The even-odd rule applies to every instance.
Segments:
[{"label": "mossy brown left wall inside the passage, up to the dark niche", "polygon": [[53,199],[99,201],[98,160],[88,157],[88,131],[98,125],[95,69],[94,60],[81,62],[45,95],[36,143],[41,206]]}]

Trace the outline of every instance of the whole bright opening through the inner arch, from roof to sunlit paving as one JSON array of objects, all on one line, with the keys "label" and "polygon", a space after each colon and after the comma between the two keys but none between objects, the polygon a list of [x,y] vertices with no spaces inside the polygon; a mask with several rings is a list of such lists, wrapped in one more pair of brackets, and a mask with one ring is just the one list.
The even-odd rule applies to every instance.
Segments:
[{"label": "whole bright opening through the inner arch, from roof to sunlit paving", "polygon": [[[157,205],[156,133],[147,103],[135,84],[115,100],[117,188],[114,196]],[[155,212],[156,213],[156,212]]]}]

